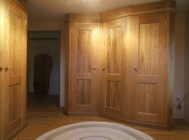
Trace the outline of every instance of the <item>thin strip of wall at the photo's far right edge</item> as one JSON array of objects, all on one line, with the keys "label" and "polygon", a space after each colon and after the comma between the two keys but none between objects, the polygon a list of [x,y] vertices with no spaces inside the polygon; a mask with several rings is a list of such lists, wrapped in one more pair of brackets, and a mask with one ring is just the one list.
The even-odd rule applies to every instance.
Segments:
[{"label": "thin strip of wall at the photo's far right edge", "polygon": [[[186,12],[186,44],[185,44],[185,75],[184,75],[184,91],[185,95],[189,93],[189,11]],[[184,120],[189,123],[189,96],[184,101]]]}]

